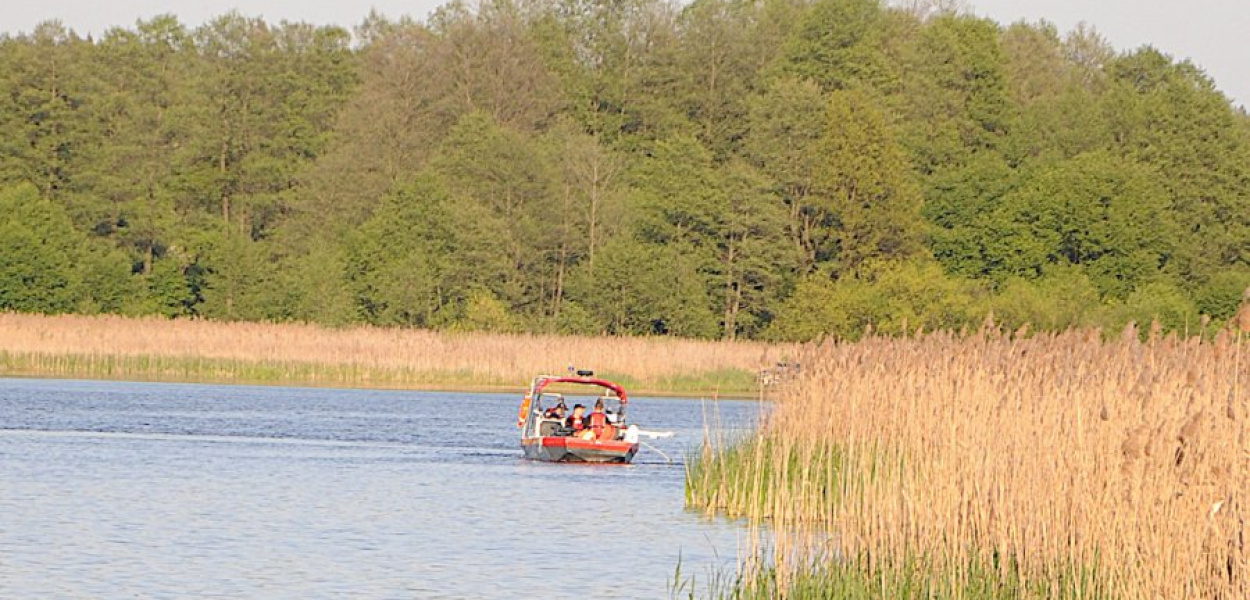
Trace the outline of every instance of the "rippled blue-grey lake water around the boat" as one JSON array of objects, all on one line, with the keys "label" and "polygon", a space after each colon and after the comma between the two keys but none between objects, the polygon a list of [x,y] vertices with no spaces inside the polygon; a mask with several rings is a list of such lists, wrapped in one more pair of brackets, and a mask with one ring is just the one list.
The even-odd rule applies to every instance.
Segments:
[{"label": "rippled blue-grey lake water around the boat", "polygon": [[[0,598],[668,598],[732,569],[682,508],[704,415],[630,466],[521,459],[518,396],[0,379]],[[570,402],[571,405],[571,402]]]}]

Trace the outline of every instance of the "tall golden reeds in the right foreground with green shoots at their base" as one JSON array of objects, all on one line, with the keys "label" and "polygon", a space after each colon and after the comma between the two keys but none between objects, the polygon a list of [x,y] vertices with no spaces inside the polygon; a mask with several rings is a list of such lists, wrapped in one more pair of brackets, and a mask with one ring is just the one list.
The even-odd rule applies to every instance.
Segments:
[{"label": "tall golden reeds in the right foreground with green shoots at their base", "polygon": [[1250,598],[1250,341],[829,342],[686,498],[770,524],[732,598]]}]

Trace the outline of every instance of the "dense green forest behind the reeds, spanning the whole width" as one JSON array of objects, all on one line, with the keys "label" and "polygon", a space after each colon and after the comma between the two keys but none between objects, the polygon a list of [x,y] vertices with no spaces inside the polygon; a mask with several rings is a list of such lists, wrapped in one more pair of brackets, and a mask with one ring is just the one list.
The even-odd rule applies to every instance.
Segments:
[{"label": "dense green forest behind the reeds, spanning the whole width", "polygon": [[1152,48],[940,4],[6,35],[0,310],[775,340],[1231,315],[1244,109]]}]

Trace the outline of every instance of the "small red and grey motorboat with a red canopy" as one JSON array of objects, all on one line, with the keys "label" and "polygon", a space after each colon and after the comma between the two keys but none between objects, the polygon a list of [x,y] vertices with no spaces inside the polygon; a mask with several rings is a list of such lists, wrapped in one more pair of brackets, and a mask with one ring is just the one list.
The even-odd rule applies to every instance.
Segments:
[{"label": "small red and grey motorboat with a red canopy", "polygon": [[[549,416],[548,410],[565,404],[564,394],[555,389],[589,390],[591,398],[604,401],[609,425],[599,430],[576,431],[565,420]],[[582,394],[575,394],[581,396]],[[629,464],[638,454],[639,429],[625,424],[629,395],[619,384],[596,379],[592,371],[576,371],[576,376],[540,375],[534,378],[521,400],[516,426],[521,430],[521,450],[530,460],[548,462],[609,462]]]}]

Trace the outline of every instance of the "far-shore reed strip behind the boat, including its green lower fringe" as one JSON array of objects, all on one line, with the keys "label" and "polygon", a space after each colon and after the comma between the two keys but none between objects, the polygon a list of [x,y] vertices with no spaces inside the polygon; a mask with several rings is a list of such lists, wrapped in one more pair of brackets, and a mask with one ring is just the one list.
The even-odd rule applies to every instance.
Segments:
[{"label": "far-shore reed strip behind the boat, including its green lower fringe", "polygon": [[754,395],[796,346],[0,312],[0,376],[520,390],[569,365],[631,391]]}]

